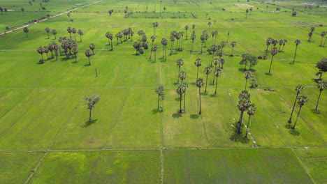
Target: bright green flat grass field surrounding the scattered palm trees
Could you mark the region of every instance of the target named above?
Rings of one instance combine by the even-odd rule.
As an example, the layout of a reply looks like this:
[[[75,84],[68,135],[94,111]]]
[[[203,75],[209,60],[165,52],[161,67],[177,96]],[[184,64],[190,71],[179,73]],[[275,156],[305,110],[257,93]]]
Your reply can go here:
[[[40,7],[39,1],[33,8]],[[95,0],[50,1],[44,3],[46,10],[34,12],[28,1],[1,1],[2,8],[20,10],[24,6],[26,11],[24,16],[18,11],[3,12],[0,31],[92,2]],[[64,14],[29,26],[28,38],[22,29],[0,36],[0,183],[327,183],[326,91],[321,93],[319,112],[314,111],[319,95],[315,66],[327,56],[326,47],[319,46],[320,33],[326,31],[326,4],[309,14],[303,2],[103,0],[71,12],[73,22]],[[253,6],[247,18],[249,7],[237,3]],[[127,18],[126,6],[133,12]],[[279,13],[270,12],[277,7],[282,9]],[[297,8],[296,17],[291,16],[292,7]],[[110,9],[114,10],[111,16]],[[132,46],[140,39],[140,29],[151,45],[152,22],[159,22],[154,41],[159,47],[157,61],[154,54],[149,58],[150,49],[136,56]],[[192,24],[196,24],[195,52],[189,52]],[[185,25],[189,25],[187,40]],[[52,34],[48,39],[45,27],[56,29],[59,38],[69,37],[68,26],[84,31],[82,42],[76,35],[78,62],[63,54],[58,61],[38,64],[41,55],[36,48],[58,43]],[[307,42],[311,26],[315,31],[312,42]],[[106,32],[115,35],[129,27],[135,33],[133,40],[117,44],[114,38],[110,51]],[[174,30],[184,31],[184,51],[170,55],[169,41],[163,61],[161,38],[169,40]],[[201,88],[199,115],[194,61],[202,59],[198,75],[205,78],[203,69],[212,59],[206,53],[211,36],[200,53],[203,30],[217,30],[217,43],[227,40],[228,31],[231,34],[224,47],[226,63],[217,94],[210,74],[208,92]],[[245,128],[242,135],[235,132],[240,116],[238,94],[245,88],[240,56],[247,52],[265,55],[268,37],[288,43],[284,52],[275,55],[271,75],[267,75],[270,54],[254,66],[259,86],[248,89],[258,109],[249,125],[251,135],[245,138]],[[292,64],[296,39],[301,43]],[[234,56],[229,56],[231,41],[237,42]],[[90,43],[96,45],[91,66],[84,54]],[[178,113],[177,59],[183,59],[182,70],[189,83],[183,114]],[[326,76],[324,73],[323,79]],[[157,111],[154,93],[160,84],[166,95],[163,112]],[[291,130],[287,120],[298,84],[305,86],[301,94],[310,101],[301,110],[296,129]],[[89,123],[83,97],[92,94],[99,94],[101,100]],[[293,122],[297,115],[298,106]],[[246,114],[243,124],[247,118]]]

